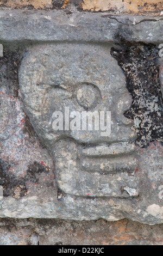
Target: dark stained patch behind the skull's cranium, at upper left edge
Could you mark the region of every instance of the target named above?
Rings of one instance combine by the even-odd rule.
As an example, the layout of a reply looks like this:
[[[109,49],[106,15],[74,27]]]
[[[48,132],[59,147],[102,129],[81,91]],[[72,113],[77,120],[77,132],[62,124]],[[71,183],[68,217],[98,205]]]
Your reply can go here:
[[[6,86],[7,94],[18,96],[18,69],[21,58],[18,53],[4,51],[0,57],[0,87]]]

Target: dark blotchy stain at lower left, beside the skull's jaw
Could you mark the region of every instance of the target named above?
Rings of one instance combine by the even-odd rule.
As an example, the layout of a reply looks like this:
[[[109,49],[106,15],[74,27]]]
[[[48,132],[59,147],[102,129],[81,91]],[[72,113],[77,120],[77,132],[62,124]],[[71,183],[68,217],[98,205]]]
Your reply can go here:
[[[9,172],[11,165],[0,159],[0,186],[3,186],[4,197],[20,198],[27,195],[26,182],[39,182],[39,175],[48,172],[49,168],[43,164],[34,162],[28,166],[27,174],[23,178],[17,178]]]

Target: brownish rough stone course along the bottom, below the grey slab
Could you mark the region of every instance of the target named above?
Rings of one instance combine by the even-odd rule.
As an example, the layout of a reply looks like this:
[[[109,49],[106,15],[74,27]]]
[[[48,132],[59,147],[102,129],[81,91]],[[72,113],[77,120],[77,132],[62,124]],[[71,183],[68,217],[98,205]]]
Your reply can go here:
[[[162,229],[162,224],[149,226],[126,219],[0,219],[0,245],[162,245]]]

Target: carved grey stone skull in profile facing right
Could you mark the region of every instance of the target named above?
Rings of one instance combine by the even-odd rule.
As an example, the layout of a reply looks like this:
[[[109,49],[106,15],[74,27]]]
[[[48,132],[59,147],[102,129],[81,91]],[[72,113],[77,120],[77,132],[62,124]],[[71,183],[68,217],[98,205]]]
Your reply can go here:
[[[103,143],[102,147],[105,143],[113,143],[113,147],[115,146],[118,150],[121,148],[121,143],[118,144],[118,142],[129,143],[135,139],[135,134],[130,129],[132,122],[123,116],[131,103],[124,76],[110,56],[110,47],[105,49],[101,46],[82,44],[68,46],[48,45],[46,48],[41,47],[37,52],[33,49],[30,56],[24,58],[19,81],[28,115],[39,137],[52,154],[54,151],[58,183],[63,192],[76,196],[90,194],[94,197],[128,197],[126,192],[123,196],[122,187],[137,187],[137,179],[134,175],[135,155],[129,155],[128,161],[123,161],[121,154],[115,160],[111,156],[101,159],[103,155],[100,158],[98,156],[83,157],[82,153],[87,143],[90,145]],[[66,51],[65,48],[67,48]],[[86,106],[78,102],[78,91],[82,90],[80,88],[83,88],[84,83],[88,88],[95,87],[93,89],[95,105],[89,104],[92,101],[91,96],[87,99],[82,95],[82,99],[87,102]],[[68,107],[70,112],[75,110],[80,113],[85,110],[88,112],[111,111],[111,134],[103,136],[101,129],[99,131],[83,129],[54,131],[53,112],[64,113],[65,107]],[[78,145],[74,140],[85,145]],[[91,148],[89,150],[91,151]],[[122,150],[122,154],[125,153],[126,148]],[[113,154],[114,152],[111,155]],[[108,175],[100,175],[103,172]],[[113,174],[114,179],[112,179]],[[136,195],[138,194],[137,192]]]

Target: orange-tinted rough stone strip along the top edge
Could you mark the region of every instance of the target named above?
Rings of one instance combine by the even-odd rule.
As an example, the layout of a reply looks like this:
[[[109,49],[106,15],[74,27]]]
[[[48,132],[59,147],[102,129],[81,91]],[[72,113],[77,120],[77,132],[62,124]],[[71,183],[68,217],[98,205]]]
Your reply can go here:
[[[2,0],[0,7],[16,9],[65,9],[66,11],[109,11],[114,14],[160,15],[158,0]]]

